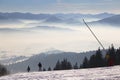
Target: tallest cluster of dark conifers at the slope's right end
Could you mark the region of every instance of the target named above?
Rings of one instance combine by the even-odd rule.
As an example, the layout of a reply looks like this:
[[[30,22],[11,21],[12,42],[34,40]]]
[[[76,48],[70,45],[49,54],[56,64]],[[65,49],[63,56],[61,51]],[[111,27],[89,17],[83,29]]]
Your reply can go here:
[[[103,56],[102,51],[98,49],[90,59],[85,57],[80,68],[108,67],[114,65],[120,65],[120,48],[115,49],[112,45],[106,51],[105,56]]]

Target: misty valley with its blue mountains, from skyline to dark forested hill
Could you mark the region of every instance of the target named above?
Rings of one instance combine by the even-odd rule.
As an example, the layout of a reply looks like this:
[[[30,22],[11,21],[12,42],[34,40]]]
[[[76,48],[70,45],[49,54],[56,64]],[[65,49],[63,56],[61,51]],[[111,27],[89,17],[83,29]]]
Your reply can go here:
[[[111,44],[118,48],[119,17],[120,15],[109,13],[0,13],[0,55],[6,58],[31,56],[49,50],[66,52],[96,50],[100,45],[83,23],[83,18],[105,48]]]

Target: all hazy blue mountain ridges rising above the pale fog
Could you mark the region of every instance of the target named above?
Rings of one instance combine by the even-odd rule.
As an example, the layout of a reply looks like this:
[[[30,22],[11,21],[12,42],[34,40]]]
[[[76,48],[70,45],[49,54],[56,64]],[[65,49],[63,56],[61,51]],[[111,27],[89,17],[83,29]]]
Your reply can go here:
[[[111,26],[120,26],[120,15],[110,14],[110,13],[101,13],[101,14],[32,14],[32,13],[0,13],[0,25],[7,24],[24,24],[24,21],[21,20],[37,20],[41,21],[38,23],[29,23],[25,24],[32,26],[25,29],[14,29],[14,28],[1,28],[0,32],[21,32],[29,30],[70,30],[68,28],[61,28],[56,26],[50,26],[49,24],[67,24],[67,25],[84,25],[82,19],[93,19],[97,18],[96,21],[88,22],[89,24],[100,24],[100,25],[111,25]],[[47,26],[45,24],[48,24]],[[43,26],[39,26],[44,24]],[[11,25],[12,26],[12,25]]]

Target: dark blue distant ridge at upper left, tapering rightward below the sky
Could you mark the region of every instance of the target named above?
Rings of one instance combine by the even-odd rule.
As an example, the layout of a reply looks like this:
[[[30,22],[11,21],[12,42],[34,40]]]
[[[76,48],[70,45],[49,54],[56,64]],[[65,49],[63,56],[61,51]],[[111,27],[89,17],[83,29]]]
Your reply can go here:
[[[28,19],[41,20],[50,17],[50,14],[32,14],[32,13],[0,13],[0,19]]]

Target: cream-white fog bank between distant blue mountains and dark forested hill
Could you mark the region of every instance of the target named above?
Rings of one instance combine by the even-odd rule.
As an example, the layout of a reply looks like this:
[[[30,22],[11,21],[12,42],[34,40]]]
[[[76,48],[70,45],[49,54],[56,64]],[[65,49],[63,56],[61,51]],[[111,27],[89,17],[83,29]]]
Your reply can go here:
[[[0,55],[33,55],[46,50],[83,52],[100,45],[83,24],[52,24],[22,20],[20,24],[0,25]],[[120,28],[90,25],[105,48],[120,47]]]

